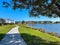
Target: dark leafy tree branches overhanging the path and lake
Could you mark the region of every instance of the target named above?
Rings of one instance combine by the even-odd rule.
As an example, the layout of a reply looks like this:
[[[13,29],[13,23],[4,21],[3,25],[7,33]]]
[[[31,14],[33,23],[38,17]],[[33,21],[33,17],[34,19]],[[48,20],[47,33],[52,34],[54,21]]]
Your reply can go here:
[[[28,9],[30,16],[60,17],[60,0],[11,0],[3,2],[4,7]]]

